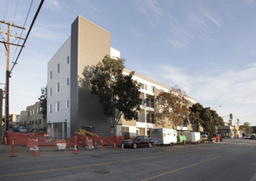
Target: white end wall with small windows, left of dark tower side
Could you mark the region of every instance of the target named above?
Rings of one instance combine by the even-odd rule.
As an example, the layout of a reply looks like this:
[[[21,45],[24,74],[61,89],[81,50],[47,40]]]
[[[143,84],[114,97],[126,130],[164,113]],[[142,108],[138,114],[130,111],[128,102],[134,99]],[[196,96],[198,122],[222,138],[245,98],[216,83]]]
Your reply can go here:
[[[52,137],[69,137],[70,42],[69,38],[48,63],[47,129]]]

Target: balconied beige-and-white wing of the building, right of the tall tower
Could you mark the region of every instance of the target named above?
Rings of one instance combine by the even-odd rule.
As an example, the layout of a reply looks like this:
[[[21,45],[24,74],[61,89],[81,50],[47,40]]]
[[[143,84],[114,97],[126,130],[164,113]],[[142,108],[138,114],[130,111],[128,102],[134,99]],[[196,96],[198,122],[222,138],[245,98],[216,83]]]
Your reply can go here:
[[[125,69],[124,73],[129,74],[130,70]],[[117,135],[146,135],[149,136],[150,128],[173,128],[173,125],[166,119],[164,127],[155,123],[154,113],[156,112],[155,99],[162,91],[171,90],[170,87],[153,81],[148,77],[141,76],[139,73],[134,74],[133,79],[140,83],[140,99],[142,104],[140,105],[139,119],[133,121],[126,121],[121,118],[121,123],[117,126]],[[187,97],[191,104],[195,104],[196,100],[192,97]],[[180,131],[193,131],[190,123],[180,125],[177,128]],[[202,130],[201,130],[202,131]]]

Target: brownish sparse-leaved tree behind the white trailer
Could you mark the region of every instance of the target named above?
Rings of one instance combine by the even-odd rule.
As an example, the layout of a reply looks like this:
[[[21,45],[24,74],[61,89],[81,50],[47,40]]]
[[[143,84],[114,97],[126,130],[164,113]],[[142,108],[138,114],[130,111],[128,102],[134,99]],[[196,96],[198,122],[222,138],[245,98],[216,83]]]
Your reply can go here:
[[[178,86],[168,92],[162,91],[156,98],[159,112],[155,114],[156,123],[164,126],[165,118],[172,123],[173,129],[186,123],[189,115],[189,104],[186,93]]]

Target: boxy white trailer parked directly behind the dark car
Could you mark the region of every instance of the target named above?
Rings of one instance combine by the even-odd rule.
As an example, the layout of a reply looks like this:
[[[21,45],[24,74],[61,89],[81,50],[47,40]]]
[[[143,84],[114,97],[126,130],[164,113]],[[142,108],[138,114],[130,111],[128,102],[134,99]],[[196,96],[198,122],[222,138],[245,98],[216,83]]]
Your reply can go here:
[[[168,128],[151,128],[149,130],[150,138],[156,145],[173,145],[177,144],[177,131]]]

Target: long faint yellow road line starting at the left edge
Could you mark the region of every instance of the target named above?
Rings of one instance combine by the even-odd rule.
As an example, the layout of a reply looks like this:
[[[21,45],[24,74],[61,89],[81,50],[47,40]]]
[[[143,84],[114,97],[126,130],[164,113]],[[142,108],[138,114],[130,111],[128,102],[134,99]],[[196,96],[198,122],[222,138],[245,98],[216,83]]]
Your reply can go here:
[[[16,174],[2,174],[2,175],[0,175],[0,178],[10,177],[10,176],[30,175],[30,174],[44,174],[44,173],[48,173],[48,172],[63,171],[63,170],[69,170],[69,169],[81,169],[81,168],[98,166],[98,165],[115,164],[115,163],[129,162],[129,161],[135,161],[135,160],[146,160],[146,159],[158,158],[158,157],[167,156],[167,155],[178,155],[180,153],[190,153],[190,152],[195,152],[195,151],[206,151],[206,150],[212,150],[212,148],[202,148],[202,149],[197,149],[197,150],[192,150],[192,151],[178,151],[175,153],[168,153],[168,154],[164,154],[164,155],[153,155],[153,156],[147,156],[147,157],[130,159],[130,160],[116,160],[116,161],[102,162],[102,163],[92,164],[92,165],[79,165],[79,166],[73,166],[73,167],[63,167],[63,168],[58,168],[58,169],[43,169],[43,170],[39,170],[39,171],[21,172],[21,173],[16,173]]]

